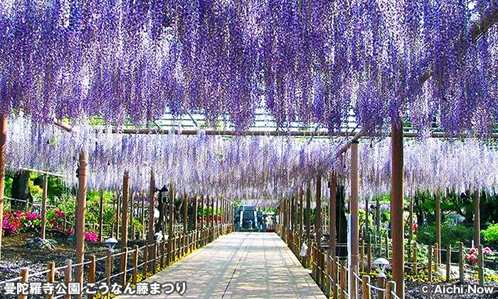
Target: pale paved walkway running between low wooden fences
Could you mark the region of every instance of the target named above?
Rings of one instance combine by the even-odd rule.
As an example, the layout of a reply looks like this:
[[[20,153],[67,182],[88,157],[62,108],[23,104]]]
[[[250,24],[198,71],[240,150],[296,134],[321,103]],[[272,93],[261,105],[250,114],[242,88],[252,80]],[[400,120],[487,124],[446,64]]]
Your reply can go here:
[[[148,282],[186,281],[178,293],[139,298],[325,299],[282,239],[273,233],[233,233],[174,263]]]

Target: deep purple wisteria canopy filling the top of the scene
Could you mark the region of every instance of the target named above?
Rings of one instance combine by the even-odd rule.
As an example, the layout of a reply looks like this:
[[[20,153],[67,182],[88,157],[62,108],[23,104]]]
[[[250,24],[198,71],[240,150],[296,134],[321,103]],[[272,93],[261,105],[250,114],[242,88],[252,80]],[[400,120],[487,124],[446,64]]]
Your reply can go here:
[[[36,122],[99,115],[110,125],[203,112],[244,130],[264,107],[280,127],[300,120],[333,133],[351,107],[366,132],[409,109],[420,130],[436,118],[451,135],[485,135],[498,115],[497,33],[475,24],[497,7],[4,0],[0,112],[23,110]]]

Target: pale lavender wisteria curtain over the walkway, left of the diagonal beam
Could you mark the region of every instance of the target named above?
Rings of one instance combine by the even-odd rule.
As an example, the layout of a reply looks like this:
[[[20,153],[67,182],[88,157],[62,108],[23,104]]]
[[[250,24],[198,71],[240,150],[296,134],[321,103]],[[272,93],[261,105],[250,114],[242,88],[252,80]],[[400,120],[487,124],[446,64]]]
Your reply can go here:
[[[7,168],[41,169],[66,175],[77,184],[80,150],[88,151],[88,188],[122,189],[129,172],[133,192],[149,192],[151,169],[156,187],[173,182],[179,193],[226,196],[231,199],[277,200],[304,182],[327,174],[341,142],[292,137],[219,137],[200,132],[186,135],[123,135],[88,125],[65,132],[25,117],[13,117],[9,130]]]

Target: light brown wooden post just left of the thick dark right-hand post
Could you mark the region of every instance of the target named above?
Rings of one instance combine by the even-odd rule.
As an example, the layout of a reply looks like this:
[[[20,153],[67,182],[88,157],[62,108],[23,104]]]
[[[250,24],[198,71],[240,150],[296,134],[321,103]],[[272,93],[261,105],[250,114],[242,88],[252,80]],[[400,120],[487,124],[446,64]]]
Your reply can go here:
[[[351,210],[351,267],[358,269],[359,264],[359,169],[358,169],[358,142],[351,144],[351,197],[349,199],[349,209]],[[352,276],[352,274],[351,274]],[[351,281],[353,278],[351,278]],[[354,283],[351,283],[349,294],[351,299],[356,299]]]

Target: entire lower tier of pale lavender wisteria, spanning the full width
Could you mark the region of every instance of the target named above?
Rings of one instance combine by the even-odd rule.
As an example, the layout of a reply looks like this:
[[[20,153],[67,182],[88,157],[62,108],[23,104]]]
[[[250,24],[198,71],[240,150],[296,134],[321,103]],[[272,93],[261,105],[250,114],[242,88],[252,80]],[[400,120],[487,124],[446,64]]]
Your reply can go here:
[[[13,117],[9,130],[7,167],[31,167],[60,172],[76,184],[75,169],[82,148],[89,152],[89,189],[122,186],[129,171],[134,192],[147,193],[149,171],[157,187],[174,182],[179,192],[252,199],[272,205],[297,188],[324,179],[334,171],[349,193],[349,152],[336,157],[340,140],[301,140],[293,137],[185,135],[120,135],[81,125],[65,132],[26,117]],[[366,140],[359,147],[360,197],[390,190],[390,140]],[[465,192],[498,190],[498,151],[479,140],[424,139],[406,142],[404,191]],[[314,188],[312,188],[314,191]],[[322,194],[328,194],[323,184]],[[258,201],[259,200],[259,201]],[[324,201],[325,202],[325,201]]]

